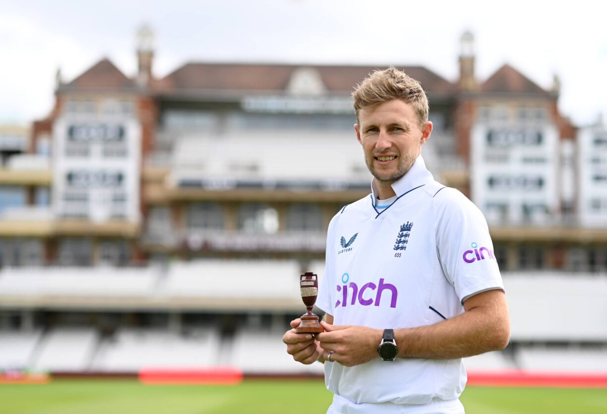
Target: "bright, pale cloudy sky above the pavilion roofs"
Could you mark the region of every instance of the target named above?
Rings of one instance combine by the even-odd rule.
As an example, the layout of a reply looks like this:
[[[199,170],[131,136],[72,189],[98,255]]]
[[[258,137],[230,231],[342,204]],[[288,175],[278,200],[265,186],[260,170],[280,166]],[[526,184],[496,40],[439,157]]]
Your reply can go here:
[[[154,75],[189,61],[425,66],[458,76],[459,38],[475,36],[476,75],[508,63],[578,126],[607,120],[607,3],[578,0],[0,0],[0,124],[53,105],[55,73],[73,80],[107,57],[127,76],[135,33],[155,32]]]

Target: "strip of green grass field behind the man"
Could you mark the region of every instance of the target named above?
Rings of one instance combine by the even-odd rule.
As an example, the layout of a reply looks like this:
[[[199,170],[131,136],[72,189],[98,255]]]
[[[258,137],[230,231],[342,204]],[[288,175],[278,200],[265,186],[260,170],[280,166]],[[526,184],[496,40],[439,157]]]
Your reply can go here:
[[[467,414],[604,414],[607,389],[468,387]],[[141,385],[116,379],[58,379],[0,385],[1,414],[313,414],[331,393],[320,379],[245,379],[240,385]]]

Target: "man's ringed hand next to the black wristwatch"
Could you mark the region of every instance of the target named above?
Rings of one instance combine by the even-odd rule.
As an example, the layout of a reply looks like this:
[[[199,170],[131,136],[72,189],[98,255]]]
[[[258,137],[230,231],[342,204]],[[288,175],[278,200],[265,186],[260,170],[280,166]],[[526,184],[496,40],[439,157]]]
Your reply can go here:
[[[330,325],[320,322],[324,332],[316,334],[326,359],[329,351],[331,361],[346,367],[364,364],[378,357],[377,348],[382,338],[382,330],[352,325]]]

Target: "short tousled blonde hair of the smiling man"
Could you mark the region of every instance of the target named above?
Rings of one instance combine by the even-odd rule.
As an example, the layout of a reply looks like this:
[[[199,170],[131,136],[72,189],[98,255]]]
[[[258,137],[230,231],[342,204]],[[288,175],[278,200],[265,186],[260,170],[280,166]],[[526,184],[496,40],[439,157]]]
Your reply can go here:
[[[352,92],[356,120],[361,109],[370,109],[393,99],[413,106],[420,126],[428,120],[428,98],[421,84],[393,66],[370,73]]]

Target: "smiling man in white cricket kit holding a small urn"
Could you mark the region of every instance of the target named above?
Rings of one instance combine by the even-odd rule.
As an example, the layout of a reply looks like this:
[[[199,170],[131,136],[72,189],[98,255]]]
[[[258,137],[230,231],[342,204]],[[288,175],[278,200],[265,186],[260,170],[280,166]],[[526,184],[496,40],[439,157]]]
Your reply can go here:
[[[328,413],[463,413],[461,358],[510,336],[486,220],[424,165],[432,123],[417,81],[390,67],[352,95],[372,193],[329,225],[325,332],[283,342],[296,361],[325,363]]]

